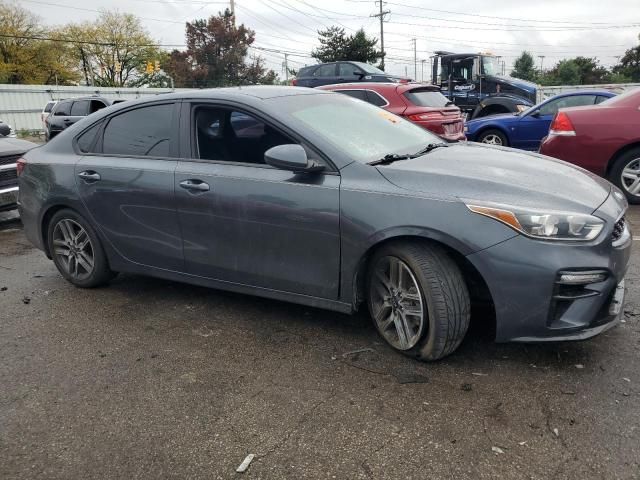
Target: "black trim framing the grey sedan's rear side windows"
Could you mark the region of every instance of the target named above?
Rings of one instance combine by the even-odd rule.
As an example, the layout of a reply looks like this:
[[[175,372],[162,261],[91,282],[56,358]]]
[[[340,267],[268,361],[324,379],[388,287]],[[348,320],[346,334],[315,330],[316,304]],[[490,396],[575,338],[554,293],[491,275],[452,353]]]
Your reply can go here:
[[[133,110],[139,110],[141,108],[159,106],[159,105],[173,105],[173,113],[171,117],[171,137],[169,138],[169,156],[154,156],[154,155],[123,155],[120,153],[103,153],[103,139],[104,139],[104,130],[111,121],[112,118],[117,117],[119,115],[125,114],[127,112],[131,112]],[[165,161],[178,161],[180,159],[180,135],[179,133],[179,125],[180,125],[180,105],[182,104],[182,100],[158,100],[155,102],[143,103],[138,105],[132,105],[129,108],[119,109],[116,112],[113,112],[111,115],[107,115],[105,117],[100,118],[99,120],[93,122],[91,125],[88,125],[86,128],[82,129],[75,137],[73,138],[72,146],[73,150],[76,154],[82,156],[97,156],[97,157],[113,157],[113,158],[137,158],[137,159],[151,159],[151,160],[165,160]],[[91,129],[96,123],[102,123],[98,132],[96,133],[96,138],[91,144],[92,147],[97,147],[94,152],[83,152],[80,150],[78,146],[78,138],[87,130]]]

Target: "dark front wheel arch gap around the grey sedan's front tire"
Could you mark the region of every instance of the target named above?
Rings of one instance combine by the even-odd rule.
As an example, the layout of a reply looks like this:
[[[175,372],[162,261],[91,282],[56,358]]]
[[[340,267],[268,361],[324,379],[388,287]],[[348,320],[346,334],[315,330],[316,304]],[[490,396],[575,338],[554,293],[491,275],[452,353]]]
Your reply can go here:
[[[453,240],[453,241],[452,241]],[[371,259],[381,248],[400,242],[431,243],[442,247],[456,263],[464,277],[471,297],[471,327],[482,323],[484,333],[490,333],[495,338],[496,312],[491,290],[479,270],[466,258],[465,248],[461,243],[445,235],[425,235],[403,233],[386,236],[373,243],[360,257],[353,277],[353,309],[358,310],[366,300],[366,273]],[[470,253],[470,252],[466,252]]]

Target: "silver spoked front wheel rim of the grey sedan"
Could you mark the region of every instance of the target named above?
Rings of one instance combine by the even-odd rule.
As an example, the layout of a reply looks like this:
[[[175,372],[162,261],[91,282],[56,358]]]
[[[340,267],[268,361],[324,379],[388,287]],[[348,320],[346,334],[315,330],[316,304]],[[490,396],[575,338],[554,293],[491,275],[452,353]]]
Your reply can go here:
[[[418,282],[409,267],[396,257],[381,258],[370,295],[374,321],[385,340],[399,350],[414,347],[425,322]]]

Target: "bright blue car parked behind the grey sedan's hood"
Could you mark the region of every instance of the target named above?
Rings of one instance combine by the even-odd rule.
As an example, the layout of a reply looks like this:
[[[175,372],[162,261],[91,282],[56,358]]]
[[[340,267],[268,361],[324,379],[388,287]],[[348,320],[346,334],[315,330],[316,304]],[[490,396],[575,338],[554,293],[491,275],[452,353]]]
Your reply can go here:
[[[537,151],[558,109],[595,105],[615,96],[607,90],[566,92],[522,112],[492,115],[465,124],[467,140]]]

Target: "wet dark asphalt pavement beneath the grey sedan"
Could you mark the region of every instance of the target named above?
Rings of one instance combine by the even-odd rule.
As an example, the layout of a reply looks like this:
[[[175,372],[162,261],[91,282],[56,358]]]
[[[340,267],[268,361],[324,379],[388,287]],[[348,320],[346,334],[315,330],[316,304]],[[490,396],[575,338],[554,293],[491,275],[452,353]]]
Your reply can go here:
[[[494,344],[478,322],[426,364],[365,314],[74,288],[0,214],[0,478],[637,479],[639,284],[636,249],[597,338]]]

